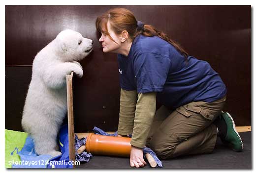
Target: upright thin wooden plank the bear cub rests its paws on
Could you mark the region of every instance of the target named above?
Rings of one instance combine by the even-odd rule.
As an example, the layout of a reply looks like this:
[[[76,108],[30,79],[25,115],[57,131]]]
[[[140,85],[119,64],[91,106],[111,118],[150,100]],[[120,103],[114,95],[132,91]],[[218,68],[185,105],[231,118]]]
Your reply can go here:
[[[72,79],[73,79],[73,72],[71,72],[70,75],[66,75],[69,160],[75,161],[75,132],[74,132],[74,117],[73,117]],[[73,168],[74,167],[75,165],[73,165]]]

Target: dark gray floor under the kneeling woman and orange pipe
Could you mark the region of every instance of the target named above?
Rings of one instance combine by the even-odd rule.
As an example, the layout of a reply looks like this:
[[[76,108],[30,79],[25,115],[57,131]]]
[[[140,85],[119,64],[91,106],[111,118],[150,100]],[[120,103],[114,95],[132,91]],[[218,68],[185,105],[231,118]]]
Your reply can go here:
[[[170,160],[161,160],[160,169],[252,169],[252,135],[251,132],[239,133],[244,149],[234,152],[225,147],[220,139],[211,154],[182,156]],[[77,169],[135,169],[129,166],[129,158],[93,156],[88,163],[76,166]],[[150,165],[140,169],[149,169]],[[158,168],[157,168],[158,169]]]

